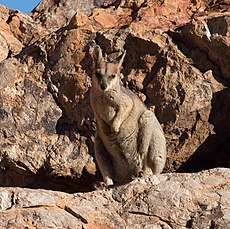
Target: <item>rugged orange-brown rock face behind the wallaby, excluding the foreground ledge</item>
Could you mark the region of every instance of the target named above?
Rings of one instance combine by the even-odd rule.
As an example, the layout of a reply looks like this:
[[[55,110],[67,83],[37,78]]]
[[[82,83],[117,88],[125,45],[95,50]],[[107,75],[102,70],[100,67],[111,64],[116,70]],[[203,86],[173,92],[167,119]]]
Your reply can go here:
[[[165,172],[230,167],[229,18],[225,0],[0,6],[0,185],[76,192],[100,179],[95,44],[111,58],[126,50],[124,84],[164,128]]]

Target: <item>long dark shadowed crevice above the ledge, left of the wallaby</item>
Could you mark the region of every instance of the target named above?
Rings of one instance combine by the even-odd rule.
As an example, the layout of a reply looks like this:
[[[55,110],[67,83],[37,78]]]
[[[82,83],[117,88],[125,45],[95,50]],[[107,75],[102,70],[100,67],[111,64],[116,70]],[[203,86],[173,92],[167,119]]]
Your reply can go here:
[[[6,160],[1,161],[1,167],[5,162],[4,169],[0,169],[1,187],[22,187],[32,189],[46,189],[62,191],[67,193],[89,192],[94,190],[93,183],[96,181],[95,175],[90,175],[86,170],[82,171],[80,178],[77,176],[51,176],[46,168],[41,168],[36,174],[25,171],[17,171],[15,166],[11,166]],[[8,163],[8,164],[6,164]]]

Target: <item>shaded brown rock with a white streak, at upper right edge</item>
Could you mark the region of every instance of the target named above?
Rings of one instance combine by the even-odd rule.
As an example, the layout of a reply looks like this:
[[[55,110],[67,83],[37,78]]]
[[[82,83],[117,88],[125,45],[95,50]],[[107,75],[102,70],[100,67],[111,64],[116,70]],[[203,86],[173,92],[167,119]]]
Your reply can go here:
[[[179,39],[184,45],[186,44],[187,50],[185,47],[180,46],[180,48],[199,66],[198,68],[204,72],[212,69],[214,74],[222,80],[229,80],[230,52],[226,52],[230,47],[229,24],[229,12],[212,13],[210,16],[197,17],[187,25],[178,28],[180,32],[175,37],[175,40]],[[193,44],[196,50],[189,54],[190,44]]]

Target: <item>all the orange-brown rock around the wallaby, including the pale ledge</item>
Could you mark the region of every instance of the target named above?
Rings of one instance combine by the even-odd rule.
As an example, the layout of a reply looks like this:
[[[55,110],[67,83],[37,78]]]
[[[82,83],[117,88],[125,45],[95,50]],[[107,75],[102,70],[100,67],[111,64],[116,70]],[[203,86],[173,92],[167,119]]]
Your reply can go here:
[[[229,228],[229,25],[227,0],[0,5],[0,227]],[[126,50],[124,84],[155,110],[168,157],[162,175],[90,192],[96,44]]]

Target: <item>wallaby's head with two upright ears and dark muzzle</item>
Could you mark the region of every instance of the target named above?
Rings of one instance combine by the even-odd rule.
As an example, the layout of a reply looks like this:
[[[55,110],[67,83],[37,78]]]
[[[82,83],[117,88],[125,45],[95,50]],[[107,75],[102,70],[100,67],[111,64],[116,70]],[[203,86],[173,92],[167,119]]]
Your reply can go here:
[[[108,62],[102,55],[102,50],[96,46],[93,50],[94,74],[93,86],[101,91],[116,90],[121,83],[121,66],[125,53],[118,63]]]

